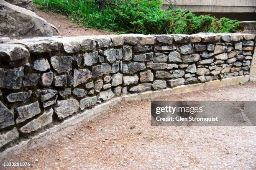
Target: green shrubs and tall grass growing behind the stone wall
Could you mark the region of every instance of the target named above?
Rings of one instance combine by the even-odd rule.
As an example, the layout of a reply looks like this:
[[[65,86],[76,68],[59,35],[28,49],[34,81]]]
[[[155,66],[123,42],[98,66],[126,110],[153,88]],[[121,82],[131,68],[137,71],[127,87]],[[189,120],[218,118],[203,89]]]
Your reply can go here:
[[[34,0],[38,8],[69,16],[86,27],[113,30],[119,33],[192,34],[199,32],[233,33],[239,22],[210,15],[196,16],[192,12],[170,8],[159,10],[160,0],[109,0],[99,11],[94,0]]]

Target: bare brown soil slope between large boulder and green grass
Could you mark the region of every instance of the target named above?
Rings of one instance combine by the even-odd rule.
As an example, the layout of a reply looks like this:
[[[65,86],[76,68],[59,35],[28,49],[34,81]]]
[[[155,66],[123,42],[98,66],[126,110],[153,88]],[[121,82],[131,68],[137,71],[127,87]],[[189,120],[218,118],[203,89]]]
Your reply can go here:
[[[114,32],[106,32],[104,30],[97,30],[92,28],[86,28],[82,25],[72,23],[72,21],[64,15],[43,12],[37,10],[35,12],[38,16],[44,18],[49,23],[54,25],[59,30],[59,36],[96,36],[96,35],[110,35]]]

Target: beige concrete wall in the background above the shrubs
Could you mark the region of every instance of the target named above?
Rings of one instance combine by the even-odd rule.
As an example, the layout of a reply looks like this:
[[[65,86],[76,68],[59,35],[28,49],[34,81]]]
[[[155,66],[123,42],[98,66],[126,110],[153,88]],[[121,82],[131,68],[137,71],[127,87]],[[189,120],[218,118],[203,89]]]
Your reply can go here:
[[[174,0],[173,0],[174,1]],[[256,13],[255,0],[175,0],[177,8],[207,13]],[[163,0],[163,9],[169,1]]]

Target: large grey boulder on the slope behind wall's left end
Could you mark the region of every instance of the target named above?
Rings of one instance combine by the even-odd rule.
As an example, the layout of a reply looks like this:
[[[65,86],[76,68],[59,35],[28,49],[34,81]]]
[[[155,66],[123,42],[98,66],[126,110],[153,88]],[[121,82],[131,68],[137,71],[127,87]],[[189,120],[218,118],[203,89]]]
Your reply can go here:
[[[0,0],[0,36],[55,36],[58,29],[30,10]]]

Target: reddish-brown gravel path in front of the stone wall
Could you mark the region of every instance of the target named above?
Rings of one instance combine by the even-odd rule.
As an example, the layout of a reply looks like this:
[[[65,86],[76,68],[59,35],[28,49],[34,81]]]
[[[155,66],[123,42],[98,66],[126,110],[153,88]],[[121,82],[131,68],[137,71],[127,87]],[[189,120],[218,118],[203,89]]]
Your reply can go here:
[[[256,100],[256,83],[159,100]],[[39,170],[255,170],[256,127],[153,127],[150,100],[123,101],[72,134],[8,160],[31,161]]]

